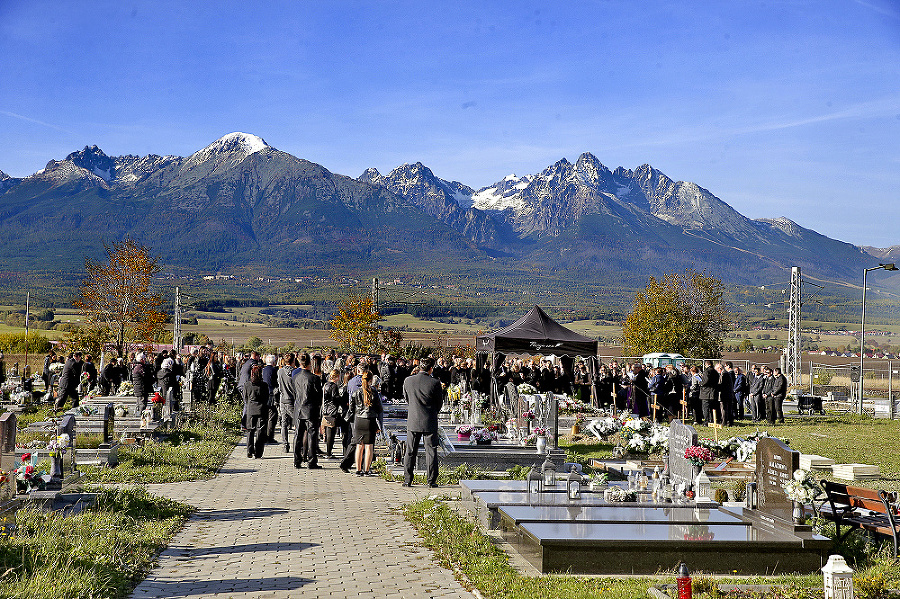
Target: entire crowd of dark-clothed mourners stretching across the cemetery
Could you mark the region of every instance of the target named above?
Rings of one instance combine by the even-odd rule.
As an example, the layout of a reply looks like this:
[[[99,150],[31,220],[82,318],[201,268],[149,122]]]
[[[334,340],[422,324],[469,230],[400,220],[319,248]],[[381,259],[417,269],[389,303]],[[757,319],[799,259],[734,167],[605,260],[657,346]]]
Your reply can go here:
[[[654,368],[640,362],[604,364],[593,357],[559,363],[500,358],[494,364],[485,358],[407,360],[336,351],[281,356],[251,351],[234,357],[202,346],[186,355],[170,350],[156,355],[132,352],[98,371],[91,355],[74,352],[66,358],[50,352],[43,377],[47,389],[54,383],[57,387],[58,410],[69,399],[77,406],[79,397],[92,389],[101,395],[116,394],[125,382],[131,383],[141,413],[151,394],[159,394],[166,414],[180,409],[185,392],[193,405],[239,401],[248,457],[262,457],[267,444],[281,444],[286,453],[293,453],[297,468],[320,468],[321,436],[325,459],[341,459],[342,470],[350,472],[355,466],[360,476],[371,472],[375,436],[384,431],[384,406],[394,402],[409,405],[411,414],[414,402],[425,406],[421,422],[412,425],[422,430],[410,431],[429,435],[426,456],[436,464],[432,454],[438,444],[437,411],[452,386],[462,392],[493,390],[496,397],[510,383],[516,387],[527,383],[539,393],[570,394],[597,408],[614,406],[659,421],[692,417],[695,424],[723,426],[745,418],[784,422],[782,403],[788,385],[779,368],[757,365],[744,373],[731,362],[711,360],[702,366]],[[55,363],[62,365],[61,371]],[[426,378],[416,378],[423,373]],[[340,455],[335,451],[338,437]]]

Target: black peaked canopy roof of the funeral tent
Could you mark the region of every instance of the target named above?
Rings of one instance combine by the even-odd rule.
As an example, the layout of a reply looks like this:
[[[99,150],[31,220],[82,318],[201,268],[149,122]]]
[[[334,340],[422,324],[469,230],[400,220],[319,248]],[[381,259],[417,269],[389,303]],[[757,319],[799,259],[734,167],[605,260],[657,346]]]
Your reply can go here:
[[[482,352],[596,356],[597,340],[567,329],[535,306],[505,329],[476,337],[475,349]]]

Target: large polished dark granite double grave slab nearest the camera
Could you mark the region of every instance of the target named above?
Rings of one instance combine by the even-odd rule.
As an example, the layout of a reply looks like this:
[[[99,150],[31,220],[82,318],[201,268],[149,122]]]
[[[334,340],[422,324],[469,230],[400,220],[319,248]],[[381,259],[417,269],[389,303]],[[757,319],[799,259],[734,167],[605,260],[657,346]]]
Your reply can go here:
[[[543,573],[653,574],[682,561],[722,574],[816,572],[831,548],[740,508],[558,503],[496,508],[502,536]]]

